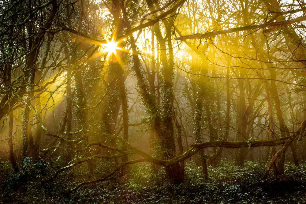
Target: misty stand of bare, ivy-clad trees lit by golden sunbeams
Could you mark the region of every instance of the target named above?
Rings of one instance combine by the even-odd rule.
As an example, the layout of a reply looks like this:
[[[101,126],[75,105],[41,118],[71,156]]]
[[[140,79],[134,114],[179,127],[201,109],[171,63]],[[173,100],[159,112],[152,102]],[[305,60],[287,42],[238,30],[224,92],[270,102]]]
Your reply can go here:
[[[26,157],[60,166],[44,182],[85,162],[88,176],[99,163],[111,169],[76,190],[118,171],[128,176],[138,162],[163,166],[176,182],[191,158],[206,178],[219,158],[243,166],[248,155],[271,157],[263,179],[271,168],[282,174],[288,147],[299,164],[304,7],[272,0],[0,4],[0,118],[15,172]],[[13,147],[18,134],[21,151]]]

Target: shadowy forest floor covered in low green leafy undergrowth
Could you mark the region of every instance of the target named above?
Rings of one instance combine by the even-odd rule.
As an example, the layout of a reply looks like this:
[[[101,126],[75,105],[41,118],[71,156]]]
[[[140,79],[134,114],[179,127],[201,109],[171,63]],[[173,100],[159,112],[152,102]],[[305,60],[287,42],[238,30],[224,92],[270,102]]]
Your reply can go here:
[[[244,168],[233,161],[222,160],[210,166],[205,180],[201,168],[186,162],[185,182],[174,184],[166,179],[163,169],[153,175],[150,164],[130,166],[129,179],[117,175],[102,183],[69,189],[80,181],[87,166],[61,173],[55,180],[42,184],[38,170],[25,175],[8,172],[8,162],[0,173],[0,203],[306,203],[306,164],[285,165],[285,175],[261,181],[267,163],[247,161]],[[7,168],[6,168],[7,167]],[[103,167],[97,172],[104,172]],[[104,166],[105,168],[105,166]],[[36,173],[36,174],[35,174]]]

